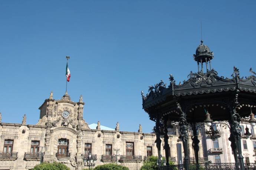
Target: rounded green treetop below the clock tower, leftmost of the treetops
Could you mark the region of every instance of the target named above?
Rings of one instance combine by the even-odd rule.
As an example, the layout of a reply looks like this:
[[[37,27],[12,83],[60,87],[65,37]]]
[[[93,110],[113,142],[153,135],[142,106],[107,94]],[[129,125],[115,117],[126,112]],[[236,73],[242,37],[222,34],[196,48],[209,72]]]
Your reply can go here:
[[[46,163],[43,162],[35,166],[32,170],[70,170],[65,164],[62,163]]]

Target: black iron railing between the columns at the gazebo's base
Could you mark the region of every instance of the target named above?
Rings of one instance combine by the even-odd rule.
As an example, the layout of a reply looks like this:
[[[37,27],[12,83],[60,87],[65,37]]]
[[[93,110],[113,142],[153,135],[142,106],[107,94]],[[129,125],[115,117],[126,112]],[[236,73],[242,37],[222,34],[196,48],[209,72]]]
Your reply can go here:
[[[246,170],[256,170],[255,163],[245,163]],[[203,163],[189,164],[189,170],[240,170],[239,163]],[[160,170],[185,170],[184,164],[161,166]]]

